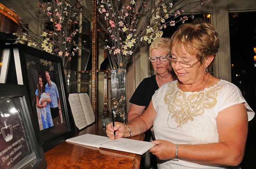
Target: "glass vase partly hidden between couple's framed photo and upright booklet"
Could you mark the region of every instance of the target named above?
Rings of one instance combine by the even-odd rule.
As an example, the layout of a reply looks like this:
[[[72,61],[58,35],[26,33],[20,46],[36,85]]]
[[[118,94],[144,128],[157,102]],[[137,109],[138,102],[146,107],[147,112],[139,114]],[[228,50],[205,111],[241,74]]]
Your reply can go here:
[[[68,93],[76,93],[76,71],[64,69],[66,88]]]

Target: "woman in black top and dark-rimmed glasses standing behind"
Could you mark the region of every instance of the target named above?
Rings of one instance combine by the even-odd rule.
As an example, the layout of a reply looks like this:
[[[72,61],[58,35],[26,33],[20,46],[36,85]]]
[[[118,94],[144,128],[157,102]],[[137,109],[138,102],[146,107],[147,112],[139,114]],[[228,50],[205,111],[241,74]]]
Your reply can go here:
[[[156,75],[146,77],[140,82],[134,91],[130,103],[132,106],[128,112],[128,121],[143,113],[148,107],[150,100],[159,87],[164,83],[177,80],[167,56],[170,54],[170,39],[160,37],[155,39],[149,47],[149,60]]]

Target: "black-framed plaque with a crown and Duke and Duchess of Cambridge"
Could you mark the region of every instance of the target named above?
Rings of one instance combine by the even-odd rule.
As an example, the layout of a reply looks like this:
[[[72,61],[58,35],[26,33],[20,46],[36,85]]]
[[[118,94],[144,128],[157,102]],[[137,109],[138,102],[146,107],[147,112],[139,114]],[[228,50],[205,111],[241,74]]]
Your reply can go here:
[[[0,84],[0,168],[46,168],[26,87]]]

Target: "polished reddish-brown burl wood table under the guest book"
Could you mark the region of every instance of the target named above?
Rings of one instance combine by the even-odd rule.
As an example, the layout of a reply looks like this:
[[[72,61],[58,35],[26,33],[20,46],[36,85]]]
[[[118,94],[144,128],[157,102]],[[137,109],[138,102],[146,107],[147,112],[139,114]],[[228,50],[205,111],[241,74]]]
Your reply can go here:
[[[102,127],[101,118],[89,127],[82,129],[74,136],[86,133],[106,136],[106,128]],[[130,137],[130,139],[144,140],[144,134]],[[47,169],[139,169],[140,155],[133,153],[94,148],[84,145],[62,142],[44,153]]]

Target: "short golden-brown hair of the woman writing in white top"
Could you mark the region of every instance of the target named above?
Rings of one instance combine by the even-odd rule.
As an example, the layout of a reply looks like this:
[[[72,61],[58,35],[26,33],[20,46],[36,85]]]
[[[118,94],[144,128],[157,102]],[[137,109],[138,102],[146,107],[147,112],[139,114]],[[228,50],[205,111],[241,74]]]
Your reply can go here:
[[[215,56],[219,49],[219,37],[217,29],[208,21],[194,19],[192,23],[181,24],[171,37],[171,47],[176,44],[176,52],[186,51],[195,55],[201,63],[208,56]],[[172,49],[173,50],[173,49]],[[208,66],[212,68],[213,62]]]

